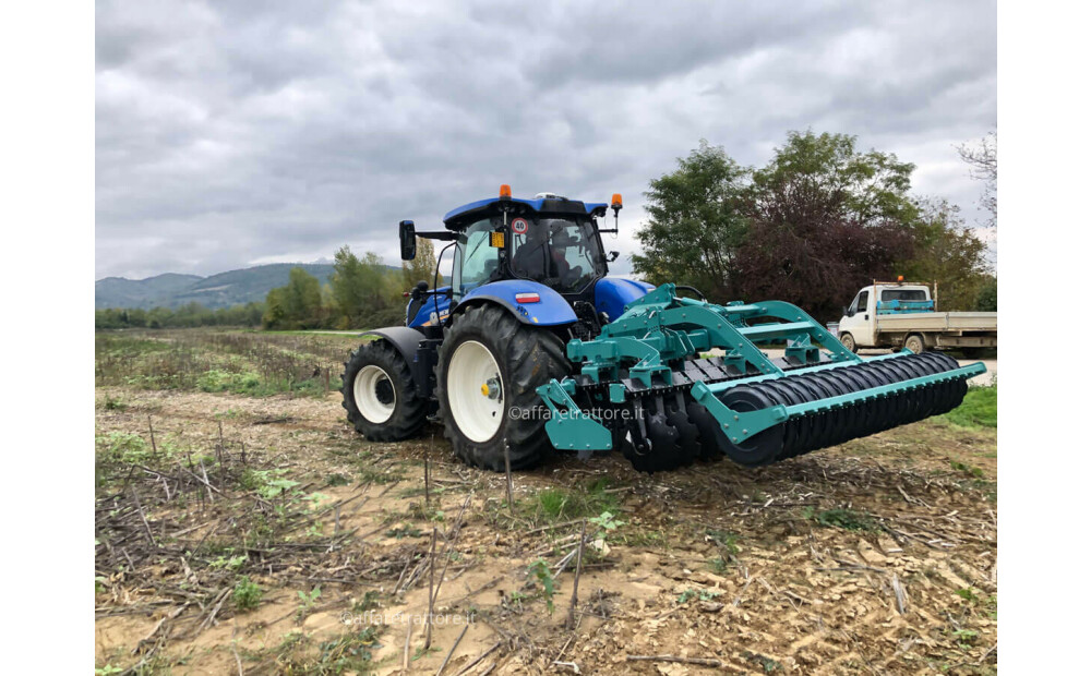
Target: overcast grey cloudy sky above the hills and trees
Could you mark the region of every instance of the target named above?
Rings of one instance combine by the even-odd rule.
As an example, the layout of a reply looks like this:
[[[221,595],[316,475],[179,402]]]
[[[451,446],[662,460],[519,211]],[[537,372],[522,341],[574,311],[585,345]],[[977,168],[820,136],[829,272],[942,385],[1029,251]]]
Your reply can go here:
[[[896,153],[914,192],[983,218],[954,146],[996,125],[993,2],[96,8],[99,278],[346,243],[393,264],[398,220],[437,227],[501,183],[623,193],[607,244],[628,254],[648,180],[700,138],[763,165],[806,128]]]

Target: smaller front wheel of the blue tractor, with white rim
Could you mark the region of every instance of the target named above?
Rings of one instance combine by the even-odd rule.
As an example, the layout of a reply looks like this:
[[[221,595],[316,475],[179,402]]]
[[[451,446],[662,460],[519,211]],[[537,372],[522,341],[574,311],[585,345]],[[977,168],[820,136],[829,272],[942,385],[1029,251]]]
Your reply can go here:
[[[424,425],[428,402],[417,396],[409,364],[385,340],[362,345],[345,362],[341,406],[371,442],[400,442]]]

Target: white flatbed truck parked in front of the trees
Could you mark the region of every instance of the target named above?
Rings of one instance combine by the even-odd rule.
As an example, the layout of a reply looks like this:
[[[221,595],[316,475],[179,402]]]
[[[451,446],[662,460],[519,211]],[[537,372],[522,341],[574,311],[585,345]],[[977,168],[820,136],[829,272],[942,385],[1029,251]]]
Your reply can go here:
[[[958,348],[975,359],[996,347],[995,312],[936,312],[924,283],[876,281],[856,293],[844,316],[829,325],[841,343],[856,348]]]

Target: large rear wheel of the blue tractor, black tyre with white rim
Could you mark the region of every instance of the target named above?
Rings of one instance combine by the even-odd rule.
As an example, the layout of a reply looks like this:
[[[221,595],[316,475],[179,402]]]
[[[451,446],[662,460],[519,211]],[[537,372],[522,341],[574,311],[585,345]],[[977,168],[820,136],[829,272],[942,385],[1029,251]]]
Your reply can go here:
[[[548,410],[535,391],[571,369],[561,339],[496,305],[470,307],[444,329],[435,396],[455,455],[473,467],[536,467],[552,451]]]

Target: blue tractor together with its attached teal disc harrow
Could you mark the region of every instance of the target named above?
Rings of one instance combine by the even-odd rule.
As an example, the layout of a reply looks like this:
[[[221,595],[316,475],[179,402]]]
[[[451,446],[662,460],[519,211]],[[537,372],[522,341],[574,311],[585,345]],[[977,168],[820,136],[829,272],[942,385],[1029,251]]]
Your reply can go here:
[[[448,242],[452,283],[420,282],[406,326],[364,334],[375,339],[343,375],[356,430],[397,442],[432,419],[459,458],[494,471],[554,448],[620,449],[647,472],[723,456],[760,466],[946,412],[984,371],[938,353],[864,361],[788,303],[717,305],[608,277],[618,253],[600,236],[621,208],[621,195],[519,200],[503,185],[444,230],[401,221],[403,259],[418,237]],[[784,357],[759,349],[770,342]]]

